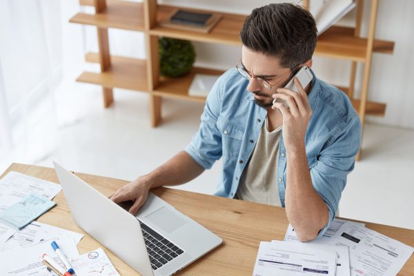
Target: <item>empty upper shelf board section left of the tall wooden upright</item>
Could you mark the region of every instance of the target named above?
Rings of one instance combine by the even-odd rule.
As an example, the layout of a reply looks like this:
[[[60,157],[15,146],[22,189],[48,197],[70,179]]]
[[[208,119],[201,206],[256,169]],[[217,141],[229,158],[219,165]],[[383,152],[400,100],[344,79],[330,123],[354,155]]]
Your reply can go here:
[[[89,6],[89,1],[82,1]],[[108,0],[106,10],[97,14],[79,12],[70,19],[72,23],[93,25],[100,28],[118,28],[144,31],[144,6],[142,3]]]

